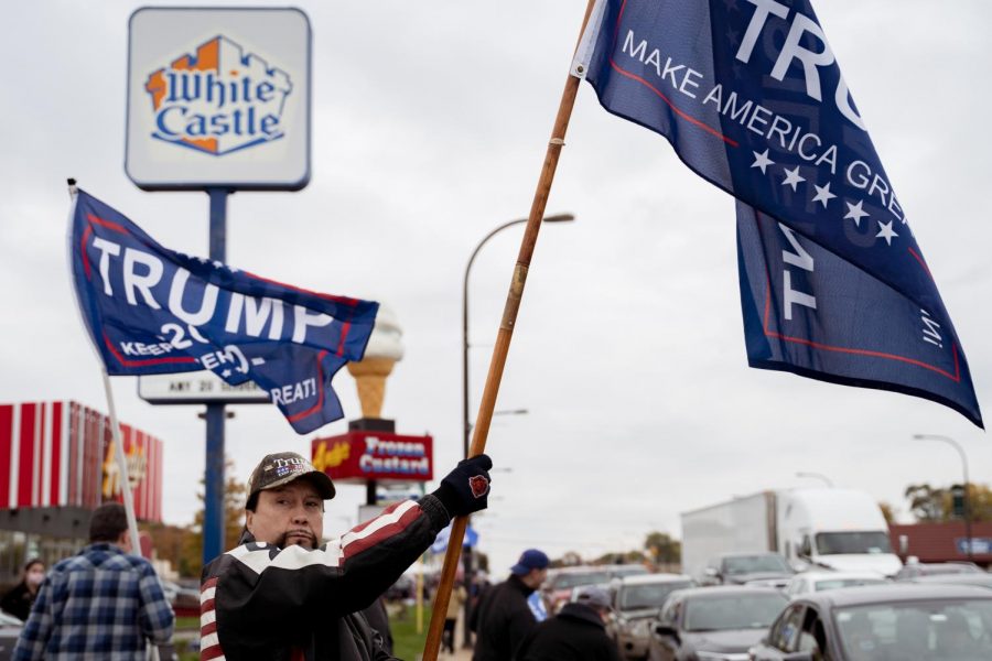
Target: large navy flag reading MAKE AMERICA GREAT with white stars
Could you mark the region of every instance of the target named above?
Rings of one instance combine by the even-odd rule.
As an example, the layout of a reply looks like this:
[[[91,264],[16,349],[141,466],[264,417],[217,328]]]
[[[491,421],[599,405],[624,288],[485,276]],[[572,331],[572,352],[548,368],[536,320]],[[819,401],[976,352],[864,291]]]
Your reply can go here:
[[[981,426],[968,362],[809,2],[600,0],[576,74],[737,198],[753,367]]]

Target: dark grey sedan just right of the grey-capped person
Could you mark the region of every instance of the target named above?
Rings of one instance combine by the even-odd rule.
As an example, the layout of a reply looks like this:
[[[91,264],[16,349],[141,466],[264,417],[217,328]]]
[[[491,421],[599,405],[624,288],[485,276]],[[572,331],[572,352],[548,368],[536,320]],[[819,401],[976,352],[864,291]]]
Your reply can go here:
[[[788,599],[770,587],[727,585],[671,593],[656,620],[650,661],[746,661]]]

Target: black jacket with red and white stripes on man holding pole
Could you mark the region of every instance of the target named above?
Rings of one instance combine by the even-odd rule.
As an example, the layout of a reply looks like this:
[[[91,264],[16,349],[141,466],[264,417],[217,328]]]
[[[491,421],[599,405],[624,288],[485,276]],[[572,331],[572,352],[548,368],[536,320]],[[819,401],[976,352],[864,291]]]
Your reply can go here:
[[[441,501],[406,501],[320,549],[249,539],[212,561],[201,583],[201,654],[228,661],[391,659],[359,613],[448,525]]]

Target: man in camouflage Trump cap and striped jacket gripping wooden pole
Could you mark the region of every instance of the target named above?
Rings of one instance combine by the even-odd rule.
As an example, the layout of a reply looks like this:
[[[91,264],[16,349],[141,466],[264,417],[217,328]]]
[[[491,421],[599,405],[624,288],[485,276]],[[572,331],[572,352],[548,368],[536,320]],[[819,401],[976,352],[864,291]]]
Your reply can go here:
[[[492,467],[486,455],[464,459],[432,494],[323,543],[331,478],[299,454],[267,455],[248,479],[238,545],[203,570],[201,659],[392,659],[359,611],[452,517],[486,507]]]

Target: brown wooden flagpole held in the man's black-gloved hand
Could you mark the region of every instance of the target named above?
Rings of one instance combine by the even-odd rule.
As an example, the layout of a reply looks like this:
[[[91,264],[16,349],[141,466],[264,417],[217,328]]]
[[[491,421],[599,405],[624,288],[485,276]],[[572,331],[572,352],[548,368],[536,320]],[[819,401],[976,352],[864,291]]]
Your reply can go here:
[[[582,33],[585,32],[585,25],[589,22],[594,4],[595,0],[589,0],[586,4],[585,17],[582,19],[582,29],[579,30],[580,40],[582,39]],[[517,322],[517,311],[520,308],[520,300],[524,297],[527,271],[530,269],[530,260],[537,245],[541,219],[544,217],[544,207],[548,205],[548,196],[551,193],[551,183],[554,181],[554,171],[558,167],[561,148],[564,147],[564,137],[569,128],[569,120],[572,117],[572,107],[575,105],[575,96],[579,94],[580,83],[581,80],[578,77],[569,75],[564,90],[561,94],[561,102],[558,106],[558,115],[554,118],[551,139],[548,141],[541,176],[538,180],[533,202],[530,205],[527,228],[520,241],[517,266],[514,268],[514,277],[510,281],[509,292],[506,295],[503,319],[499,322],[499,332],[496,336],[496,345],[493,347],[493,357],[489,359],[489,372],[486,376],[483,398],[478,404],[478,416],[472,430],[472,445],[468,449],[468,456],[479,455],[486,449],[486,437],[489,434],[489,423],[493,420],[493,410],[496,407],[496,395],[499,392],[499,382],[503,379],[503,369],[506,366],[506,356],[509,351],[514,326]],[[428,637],[423,647],[423,661],[436,661],[438,659],[438,652],[441,648],[441,633],[444,629],[444,618],[448,614],[448,603],[451,599],[451,588],[454,585],[455,572],[462,553],[462,541],[465,538],[467,525],[468,517],[456,517],[452,522],[448,551],[444,554],[444,565],[441,568],[441,582],[434,596],[431,624],[428,628]],[[467,626],[467,622],[465,622],[465,626]]]

